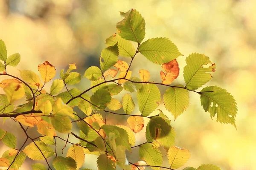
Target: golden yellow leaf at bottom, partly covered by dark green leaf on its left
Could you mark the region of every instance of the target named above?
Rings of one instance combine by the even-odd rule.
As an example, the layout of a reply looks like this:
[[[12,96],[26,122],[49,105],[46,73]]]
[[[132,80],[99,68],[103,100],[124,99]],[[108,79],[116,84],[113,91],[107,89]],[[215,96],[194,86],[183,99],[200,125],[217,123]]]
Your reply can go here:
[[[84,164],[84,150],[83,147],[73,144],[67,151],[67,156],[71,157],[76,161],[76,169],[78,170]]]

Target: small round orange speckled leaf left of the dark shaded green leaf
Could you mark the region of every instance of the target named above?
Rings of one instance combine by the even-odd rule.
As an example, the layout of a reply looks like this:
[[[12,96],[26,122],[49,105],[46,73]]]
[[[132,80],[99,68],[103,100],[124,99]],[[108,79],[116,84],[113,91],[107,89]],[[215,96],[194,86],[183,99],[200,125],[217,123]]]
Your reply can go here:
[[[127,123],[134,133],[138,133],[144,127],[144,119],[140,116],[130,116]]]

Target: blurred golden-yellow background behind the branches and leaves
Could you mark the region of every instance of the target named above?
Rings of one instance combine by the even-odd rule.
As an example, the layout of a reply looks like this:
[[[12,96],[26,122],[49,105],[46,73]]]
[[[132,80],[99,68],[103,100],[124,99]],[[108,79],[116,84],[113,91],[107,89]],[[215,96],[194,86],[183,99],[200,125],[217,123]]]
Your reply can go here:
[[[59,78],[61,69],[76,63],[77,71],[83,75],[88,67],[99,65],[105,39],[116,33],[116,23],[122,20],[119,11],[130,8],[136,8],[145,19],[144,40],[167,37],[184,55],[177,59],[180,76],[172,85],[184,84],[185,58],[193,52],[204,53],[217,65],[207,85],[225,88],[236,99],[237,130],[210,119],[198,94],[190,93],[189,108],[175,121],[162,101],[160,109],[176,130],[175,145],[191,152],[186,165],[197,168],[201,164],[215,164],[221,170],[256,170],[256,0],[0,0],[0,39],[6,43],[8,55],[20,53],[18,69],[37,72],[38,64],[49,61]],[[130,61],[127,57],[121,59]],[[139,69],[147,69],[151,81],[160,81],[160,65],[140,54],[134,60],[133,76],[139,75]],[[17,68],[9,68],[9,74],[19,76]],[[90,87],[90,82],[83,78],[76,87],[84,90]],[[159,88],[162,94],[166,90]],[[116,98],[121,101],[125,93]],[[136,94],[132,95],[136,101]],[[137,113],[138,106],[134,111]],[[127,118],[109,115],[107,123],[126,125]],[[17,136],[19,148],[25,137],[20,127],[12,120],[2,122],[1,128]],[[28,131],[38,136],[36,128]],[[136,134],[136,144],[145,142],[143,133],[145,128]],[[78,142],[73,138],[71,141]],[[61,150],[64,143],[59,143]],[[7,149],[0,142],[0,155]],[[138,161],[138,150],[133,152],[127,154],[129,161]],[[66,153],[67,149],[64,156]],[[96,158],[86,155],[84,167],[96,170]],[[163,165],[168,167],[167,158],[164,160]],[[32,169],[33,163],[26,158],[20,170]]]

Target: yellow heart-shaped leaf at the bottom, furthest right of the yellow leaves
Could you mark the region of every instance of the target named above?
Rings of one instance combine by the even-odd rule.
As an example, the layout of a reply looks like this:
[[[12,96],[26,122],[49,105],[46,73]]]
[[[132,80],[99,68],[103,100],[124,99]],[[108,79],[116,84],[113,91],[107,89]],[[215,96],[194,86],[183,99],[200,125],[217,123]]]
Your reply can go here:
[[[180,149],[179,147],[172,146],[169,148],[167,156],[171,165],[170,168],[177,169],[182,167],[186,161],[189,160],[190,152],[187,149]]]

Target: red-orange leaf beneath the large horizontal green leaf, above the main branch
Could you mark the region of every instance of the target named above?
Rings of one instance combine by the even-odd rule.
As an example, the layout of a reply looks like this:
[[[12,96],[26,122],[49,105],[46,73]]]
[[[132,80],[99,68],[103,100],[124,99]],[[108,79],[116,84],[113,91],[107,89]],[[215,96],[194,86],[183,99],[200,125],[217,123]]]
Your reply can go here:
[[[174,59],[170,62],[166,62],[162,65],[163,71],[160,72],[160,76],[163,84],[171,84],[179,75],[180,68],[177,60]]]

